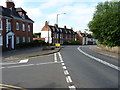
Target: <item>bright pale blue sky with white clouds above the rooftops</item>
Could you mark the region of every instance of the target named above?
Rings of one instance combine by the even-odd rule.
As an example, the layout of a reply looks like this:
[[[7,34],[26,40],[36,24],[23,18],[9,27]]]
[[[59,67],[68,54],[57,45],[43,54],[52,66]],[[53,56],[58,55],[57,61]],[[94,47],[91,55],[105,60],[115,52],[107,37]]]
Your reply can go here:
[[[34,33],[40,32],[45,21],[50,25],[56,23],[57,14],[59,27],[73,28],[74,31],[88,29],[95,7],[106,0],[13,0],[15,7],[22,7],[27,15],[35,21]],[[110,1],[110,0],[108,0]],[[6,0],[0,0],[5,6]],[[66,13],[66,14],[61,14]]]

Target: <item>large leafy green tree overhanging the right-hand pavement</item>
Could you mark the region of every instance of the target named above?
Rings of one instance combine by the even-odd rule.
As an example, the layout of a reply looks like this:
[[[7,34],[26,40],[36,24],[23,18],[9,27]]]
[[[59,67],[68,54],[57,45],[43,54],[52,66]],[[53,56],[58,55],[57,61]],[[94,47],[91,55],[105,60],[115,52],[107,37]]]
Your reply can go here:
[[[99,43],[120,46],[120,2],[99,3],[88,27]]]

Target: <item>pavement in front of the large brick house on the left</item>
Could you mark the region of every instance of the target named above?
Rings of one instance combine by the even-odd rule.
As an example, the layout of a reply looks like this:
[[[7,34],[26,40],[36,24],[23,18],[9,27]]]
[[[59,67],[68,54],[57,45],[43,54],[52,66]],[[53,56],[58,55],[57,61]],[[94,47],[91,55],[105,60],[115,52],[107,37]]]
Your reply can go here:
[[[61,48],[55,48],[54,50],[43,50],[43,47],[32,47],[19,50],[5,51],[2,53],[2,60],[17,60],[28,59],[36,56],[48,55],[58,52]]]

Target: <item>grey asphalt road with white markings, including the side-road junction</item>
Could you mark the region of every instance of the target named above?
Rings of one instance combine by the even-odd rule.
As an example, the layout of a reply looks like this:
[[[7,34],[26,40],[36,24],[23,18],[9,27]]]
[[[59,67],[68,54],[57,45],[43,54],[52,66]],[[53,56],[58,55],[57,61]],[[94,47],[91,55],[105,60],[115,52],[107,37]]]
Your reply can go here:
[[[119,86],[118,60],[89,46],[65,46],[51,55],[6,62],[1,69],[2,86],[8,88],[118,90]]]

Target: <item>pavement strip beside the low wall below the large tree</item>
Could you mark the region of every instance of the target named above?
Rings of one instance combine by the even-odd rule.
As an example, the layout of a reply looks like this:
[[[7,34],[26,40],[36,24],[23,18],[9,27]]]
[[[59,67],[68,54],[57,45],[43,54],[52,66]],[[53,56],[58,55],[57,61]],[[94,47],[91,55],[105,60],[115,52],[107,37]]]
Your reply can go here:
[[[97,47],[96,45],[95,46],[90,46],[89,49],[93,50],[94,52],[100,53],[102,55],[106,55],[106,56],[109,56],[109,57],[112,57],[112,58],[120,59],[120,57],[119,57],[120,54],[103,50],[103,49]]]

